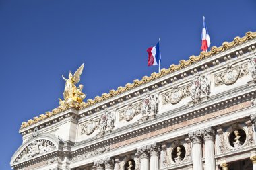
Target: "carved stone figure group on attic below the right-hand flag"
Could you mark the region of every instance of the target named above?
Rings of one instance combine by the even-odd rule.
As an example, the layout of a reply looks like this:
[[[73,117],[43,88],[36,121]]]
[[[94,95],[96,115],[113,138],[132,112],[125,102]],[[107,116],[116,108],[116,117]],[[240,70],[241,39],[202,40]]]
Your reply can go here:
[[[208,96],[210,94],[210,83],[204,75],[195,75],[191,80],[191,98],[198,99],[201,95]]]

